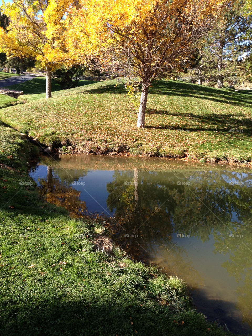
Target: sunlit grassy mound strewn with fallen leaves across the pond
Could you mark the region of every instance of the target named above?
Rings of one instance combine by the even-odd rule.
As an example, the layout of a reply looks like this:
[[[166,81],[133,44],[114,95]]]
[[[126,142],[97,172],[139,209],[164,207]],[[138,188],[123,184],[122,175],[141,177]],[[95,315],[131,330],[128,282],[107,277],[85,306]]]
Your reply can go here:
[[[246,163],[252,159],[251,103],[251,91],[159,80],[149,91],[145,128],[138,129],[127,90],[113,80],[54,91],[47,100],[33,94],[0,115],[46,145],[71,145],[68,151]]]

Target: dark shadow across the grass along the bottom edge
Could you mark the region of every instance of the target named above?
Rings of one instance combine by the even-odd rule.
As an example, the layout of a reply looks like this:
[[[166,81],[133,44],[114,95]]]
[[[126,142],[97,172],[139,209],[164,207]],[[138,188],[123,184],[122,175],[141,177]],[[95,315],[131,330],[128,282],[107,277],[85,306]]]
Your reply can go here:
[[[48,277],[48,286],[51,285]],[[67,279],[65,280],[67,281]],[[77,281],[77,279],[76,279]],[[24,287],[24,286],[23,286]],[[62,287],[62,284],[59,284]],[[38,291],[40,291],[38,287]],[[70,289],[69,289],[70,290]],[[209,335],[203,316],[196,312],[174,314],[163,305],[148,304],[144,300],[136,303],[134,297],[126,293],[116,293],[108,287],[106,292],[86,288],[83,294],[61,292],[52,288],[48,297],[34,300],[34,293],[27,293],[23,301],[19,295],[9,299],[2,312],[1,328],[3,336],[103,336],[103,335],[173,335],[195,336]],[[60,297],[59,297],[60,295]],[[20,300],[21,299],[21,300]],[[202,298],[211,308],[220,305],[217,299]],[[206,300],[206,301],[205,301]],[[140,304],[142,303],[142,304]],[[235,309],[230,302],[224,302],[227,311]],[[211,309],[209,309],[211,310]],[[247,331],[233,328],[237,321],[220,312],[220,324],[226,322],[231,331]],[[174,323],[174,320],[178,323]],[[184,321],[181,326],[181,321]],[[214,320],[214,319],[213,319]],[[239,321],[241,326],[241,321]],[[132,324],[131,324],[132,323]],[[195,328],[197,326],[197,328]],[[223,335],[212,328],[211,335]],[[235,330],[234,330],[235,329]],[[243,329],[243,328],[242,328]]]

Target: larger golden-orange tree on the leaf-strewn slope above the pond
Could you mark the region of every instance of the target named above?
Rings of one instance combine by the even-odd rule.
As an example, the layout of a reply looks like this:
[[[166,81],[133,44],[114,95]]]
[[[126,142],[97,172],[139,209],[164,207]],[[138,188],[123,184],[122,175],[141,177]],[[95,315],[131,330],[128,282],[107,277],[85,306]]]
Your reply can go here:
[[[230,5],[225,0],[80,0],[69,16],[70,48],[90,67],[140,77],[137,126],[144,127],[153,80],[180,68]]]

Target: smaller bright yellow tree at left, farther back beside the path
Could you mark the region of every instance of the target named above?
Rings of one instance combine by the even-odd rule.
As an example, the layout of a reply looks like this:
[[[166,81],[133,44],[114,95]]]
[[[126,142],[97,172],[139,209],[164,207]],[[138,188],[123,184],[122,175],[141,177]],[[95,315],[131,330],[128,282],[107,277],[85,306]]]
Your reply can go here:
[[[3,4],[8,30],[0,29],[0,50],[9,57],[29,57],[46,70],[46,98],[51,97],[51,72],[68,62],[65,17],[68,0],[14,0]]]

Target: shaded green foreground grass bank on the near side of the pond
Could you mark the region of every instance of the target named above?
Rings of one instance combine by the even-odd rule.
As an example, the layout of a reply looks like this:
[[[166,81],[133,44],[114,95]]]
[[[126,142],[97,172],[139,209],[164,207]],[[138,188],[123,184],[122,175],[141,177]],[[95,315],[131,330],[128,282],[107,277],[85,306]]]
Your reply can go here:
[[[224,336],[193,309],[181,280],[94,250],[102,227],[46,203],[27,174],[38,149],[0,124],[2,336]]]

